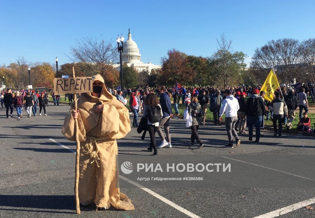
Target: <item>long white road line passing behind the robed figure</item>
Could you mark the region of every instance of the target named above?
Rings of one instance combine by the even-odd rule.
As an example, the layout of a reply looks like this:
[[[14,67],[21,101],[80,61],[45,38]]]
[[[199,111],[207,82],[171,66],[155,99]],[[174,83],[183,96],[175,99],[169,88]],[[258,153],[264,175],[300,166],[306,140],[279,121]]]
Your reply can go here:
[[[61,143],[59,143],[59,142],[57,142],[57,141],[55,141],[55,140],[53,140],[53,139],[49,139],[49,140],[52,141],[52,142],[54,142],[54,143],[56,143],[57,145],[60,145],[60,146],[63,147],[63,148],[66,148],[66,149],[72,151],[73,153],[76,153],[76,152],[77,152],[77,151],[75,151],[75,150],[73,150],[73,149],[71,149],[71,148],[69,148],[69,147],[67,147],[67,146],[64,146],[63,144],[61,144]],[[196,214],[194,214],[194,213],[192,213],[192,212],[186,210],[185,208],[182,208],[182,207],[179,206],[178,204],[175,204],[175,203],[171,202],[170,200],[164,198],[163,196],[161,196],[161,195],[159,195],[159,194],[153,192],[152,190],[150,190],[150,189],[148,189],[148,188],[146,188],[146,187],[144,187],[144,186],[141,186],[140,184],[138,184],[138,183],[136,183],[136,182],[134,182],[134,181],[132,181],[132,180],[129,180],[128,178],[126,178],[126,177],[124,177],[124,176],[122,176],[122,175],[119,175],[119,178],[121,178],[121,179],[123,179],[123,180],[125,180],[125,181],[127,181],[127,182],[129,182],[129,183],[131,183],[131,184],[133,184],[134,186],[136,186],[136,187],[142,189],[143,191],[148,192],[148,193],[151,194],[152,196],[154,196],[154,197],[156,197],[157,199],[163,201],[164,203],[170,205],[171,207],[173,207],[173,208],[179,210],[180,212],[186,214],[186,215],[189,216],[189,217],[192,217],[192,218],[201,218],[200,216],[198,216],[198,215],[196,215]]]

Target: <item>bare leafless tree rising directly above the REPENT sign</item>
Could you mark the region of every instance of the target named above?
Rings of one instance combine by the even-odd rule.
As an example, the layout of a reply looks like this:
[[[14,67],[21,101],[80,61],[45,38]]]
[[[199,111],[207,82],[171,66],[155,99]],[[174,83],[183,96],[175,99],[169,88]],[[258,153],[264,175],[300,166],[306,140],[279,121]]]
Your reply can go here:
[[[86,37],[77,41],[75,47],[71,46],[71,53],[67,57],[73,62],[82,62],[90,74],[99,73],[105,77],[106,72],[119,60],[117,48],[113,44],[112,40],[105,42],[102,37]]]

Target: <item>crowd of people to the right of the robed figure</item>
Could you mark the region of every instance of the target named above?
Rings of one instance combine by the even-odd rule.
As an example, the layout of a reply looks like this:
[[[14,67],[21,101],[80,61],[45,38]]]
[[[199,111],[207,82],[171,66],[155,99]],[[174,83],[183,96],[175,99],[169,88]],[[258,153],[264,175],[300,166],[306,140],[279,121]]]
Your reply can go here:
[[[152,118],[152,110],[154,109],[156,115],[160,114],[159,122],[151,122],[146,118],[147,131],[149,131],[151,142],[149,151],[154,150],[157,154],[156,148],[171,147],[171,134],[169,129],[170,118],[180,115],[178,105],[180,100],[185,104],[186,111],[184,112],[184,120],[187,121],[186,126],[190,127],[191,142],[189,146],[194,146],[197,141],[198,148],[203,146],[198,135],[199,125],[205,125],[206,113],[209,109],[213,113],[214,124],[221,125],[222,116],[225,114],[225,126],[228,136],[228,144],[226,147],[233,148],[233,137],[235,145],[239,146],[241,141],[238,137],[240,134],[247,134],[246,126],[248,126],[249,141],[259,143],[261,137],[260,130],[264,127],[264,118],[272,120],[274,136],[282,137],[282,127],[285,125],[287,130],[296,128],[299,134],[303,131],[310,132],[311,120],[307,117],[308,101],[307,96],[314,96],[313,86],[308,89],[307,93],[305,85],[301,87],[282,87],[274,93],[274,100],[266,101],[264,97],[265,91],[260,91],[261,86],[257,87],[229,87],[224,89],[221,87],[188,87],[181,89],[171,87],[166,89],[165,86],[159,86],[156,90],[146,87],[144,90],[134,89],[130,92],[129,112],[134,113],[133,126],[138,127],[138,114],[143,113],[143,118]],[[121,102],[126,105],[122,99],[123,91],[118,91],[121,96]],[[129,91],[127,91],[128,95]],[[116,93],[113,93],[115,95]],[[118,96],[118,95],[117,95]],[[160,100],[157,100],[160,97]],[[173,104],[175,114],[171,110],[171,100],[173,97]],[[118,99],[118,98],[117,98]],[[146,102],[149,99],[150,103]],[[299,124],[294,127],[292,125],[295,119],[295,111],[299,107]],[[304,113],[303,113],[304,110]],[[150,114],[150,116],[148,116]],[[156,121],[156,120],[155,120]],[[141,123],[141,121],[140,121]],[[315,124],[314,124],[315,125]],[[142,129],[143,127],[141,127]],[[163,135],[162,128],[164,128],[166,138]],[[145,129],[145,128],[144,128]],[[254,136],[255,129],[255,136]],[[146,132],[146,131],[145,131]],[[144,135],[145,135],[144,132]],[[158,133],[162,140],[160,146],[156,146],[155,132]],[[144,139],[142,135],[141,139]]]

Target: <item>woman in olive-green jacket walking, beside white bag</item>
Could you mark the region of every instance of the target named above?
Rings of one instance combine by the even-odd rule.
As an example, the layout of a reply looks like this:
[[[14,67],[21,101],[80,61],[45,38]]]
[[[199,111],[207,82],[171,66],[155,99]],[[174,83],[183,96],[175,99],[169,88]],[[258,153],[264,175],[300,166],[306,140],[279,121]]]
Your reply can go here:
[[[198,148],[201,148],[203,146],[203,143],[201,142],[198,135],[199,125],[202,121],[202,112],[200,110],[201,105],[198,103],[197,97],[193,96],[192,102],[188,105],[188,113],[192,116],[192,125],[190,126],[190,129],[192,130],[192,135],[190,136],[191,142],[189,143],[189,145],[194,146],[194,141],[196,140],[199,143]]]

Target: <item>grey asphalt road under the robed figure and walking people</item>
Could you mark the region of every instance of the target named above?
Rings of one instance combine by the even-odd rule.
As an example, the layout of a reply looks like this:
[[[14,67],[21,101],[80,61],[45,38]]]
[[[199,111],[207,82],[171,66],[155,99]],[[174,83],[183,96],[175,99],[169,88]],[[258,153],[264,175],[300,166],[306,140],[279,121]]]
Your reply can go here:
[[[151,193],[120,179],[120,191],[132,200],[135,210],[111,207],[96,212],[95,206],[87,206],[81,207],[81,214],[77,215],[73,194],[75,154],[52,141],[76,149],[61,134],[68,110],[66,105],[49,106],[47,117],[31,118],[23,111],[24,118],[17,120],[6,118],[0,108],[0,217],[194,217],[183,213],[186,209],[202,218],[253,218],[315,197],[315,138],[296,135],[276,138],[263,131],[265,137],[260,144],[247,141],[248,135],[243,135],[241,146],[229,149],[223,147],[227,143],[225,128],[207,123],[199,129],[205,146],[194,149],[187,146],[190,129],[183,121],[171,120],[172,148],[161,148],[157,156],[152,156],[146,151],[148,138],[141,141],[132,128],[124,139],[118,140],[119,161],[138,158],[165,163],[182,155],[187,159],[208,155],[231,163],[231,176],[222,179],[214,174],[211,182],[203,186],[196,183],[196,187],[186,183],[175,186],[135,181]],[[157,139],[157,144],[160,142]],[[132,176],[123,176],[133,180]],[[183,209],[175,209],[173,204],[154,197],[152,191]],[[315,208],[314,203],[310,206]],[[315,209],[301,207],[281,217],[315,217]]]

